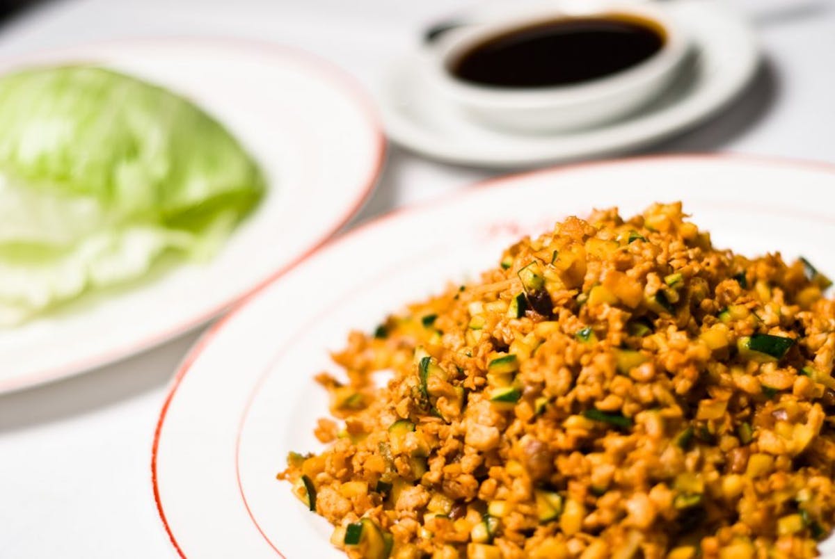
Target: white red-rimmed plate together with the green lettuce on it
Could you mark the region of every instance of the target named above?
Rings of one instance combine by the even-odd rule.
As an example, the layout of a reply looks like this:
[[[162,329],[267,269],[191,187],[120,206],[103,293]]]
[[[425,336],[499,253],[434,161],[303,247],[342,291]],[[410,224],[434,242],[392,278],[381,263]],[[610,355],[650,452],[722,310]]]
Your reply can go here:
[[[0,392],[204,324],[345,224],[382,164],[356,86],[266,43],[99,43],[0,70]]]

